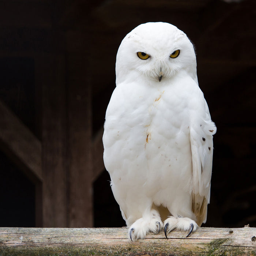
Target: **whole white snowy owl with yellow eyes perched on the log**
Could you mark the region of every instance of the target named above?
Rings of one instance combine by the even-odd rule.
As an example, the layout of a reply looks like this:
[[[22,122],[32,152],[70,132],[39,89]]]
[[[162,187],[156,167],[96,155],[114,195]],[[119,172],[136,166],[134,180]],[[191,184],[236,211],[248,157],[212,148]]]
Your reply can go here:
[[[116,56],[116,88],[104,124],[104,163],[131,240],[206,222],[212,135],[184,32],[163,22],[128,33]]]

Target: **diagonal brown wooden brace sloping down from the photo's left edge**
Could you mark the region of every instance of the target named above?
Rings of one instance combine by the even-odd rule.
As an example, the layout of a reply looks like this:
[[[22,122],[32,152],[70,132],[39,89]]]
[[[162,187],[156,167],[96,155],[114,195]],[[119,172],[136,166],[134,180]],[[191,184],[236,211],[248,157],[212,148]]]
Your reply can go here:
[[[33,180],[42,181],[41,142],[0,101],[0,148]]]

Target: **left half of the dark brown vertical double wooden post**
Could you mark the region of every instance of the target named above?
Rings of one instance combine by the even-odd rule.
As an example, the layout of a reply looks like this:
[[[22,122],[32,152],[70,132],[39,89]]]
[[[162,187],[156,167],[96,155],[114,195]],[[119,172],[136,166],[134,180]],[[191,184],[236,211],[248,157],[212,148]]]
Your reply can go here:
[[[42,88],[42,211],[44,227],[67,227],[67,131],[64,55],[35,59]]]

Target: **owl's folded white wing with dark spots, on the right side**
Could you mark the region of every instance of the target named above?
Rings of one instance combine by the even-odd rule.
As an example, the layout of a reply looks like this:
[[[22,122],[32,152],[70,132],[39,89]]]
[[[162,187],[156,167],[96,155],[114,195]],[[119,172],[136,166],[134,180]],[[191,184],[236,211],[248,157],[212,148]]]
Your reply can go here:
[[[216,126],[205,101],[206,118],[190,127],[190,143],[192,153],[192,211],[199,226],[206,222],[207,204],[210,203],[211,172],[212,172],[212,135]]]

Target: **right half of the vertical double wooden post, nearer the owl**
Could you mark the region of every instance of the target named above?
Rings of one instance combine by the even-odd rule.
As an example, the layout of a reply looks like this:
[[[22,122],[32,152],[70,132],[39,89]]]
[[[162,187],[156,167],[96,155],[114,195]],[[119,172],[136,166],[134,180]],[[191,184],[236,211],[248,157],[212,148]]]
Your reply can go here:
[[[86,54],[68,53],[68,227],[93,227],[91,87],[87,62]]]

